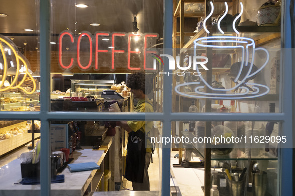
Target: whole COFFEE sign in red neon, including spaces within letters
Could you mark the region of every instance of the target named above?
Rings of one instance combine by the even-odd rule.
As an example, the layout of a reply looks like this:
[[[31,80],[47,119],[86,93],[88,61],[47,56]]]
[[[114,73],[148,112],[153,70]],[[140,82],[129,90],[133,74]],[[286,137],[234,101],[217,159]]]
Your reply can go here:
[[[64,31],[58,38],[59,65],[63,69],[71,69],[76,63],[81,70],[99,70],[101,66],[114,70],[119,64],[130,71],[153,70],[152,65],[147,65],[146,56],[152,53],[147,48],[155,45],[158,37],[155,33],[96,32],[92,35],[87,31],[75,36],[70,31]],[[65,62],[67,51],[76,53]]]

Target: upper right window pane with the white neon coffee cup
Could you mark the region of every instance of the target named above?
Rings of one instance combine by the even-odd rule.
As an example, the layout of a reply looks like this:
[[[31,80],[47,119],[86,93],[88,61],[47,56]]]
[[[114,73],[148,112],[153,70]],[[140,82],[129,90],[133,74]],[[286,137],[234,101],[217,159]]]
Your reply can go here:
[[[187,112],[186,105],[190,104],[186,102],[187,98],[201,102],[199,112],[204,106],[202,101],[206,99],[212,100],[212,104],[235,100],[237,111],[242,113],[268,113],[269,103],[276,103],[278,109],[275,112],[281,112],[278,102],[283,70],[280,64],[280,13],[274,13],[274,18],[266,22],[259,9],[265,6],[262,5],[264,2],[249,4],[241,0],[237,6],[232,3],[213,2],[208,5],[212,21],[207,22],[212,25],[206,27],[203,25],[205,18],[200,18],[195,31],[188,30],[189,27],[196,28],[189,14],[197,16],[204,7],[184,3],[184,30],[179,29],[182,21],[176,20],[174,26],[173,57],[178,67],[172,76],[173,112]],[[280,10],[280,5],[274,4],[274,9]],[[222,12],[226,12],[226,17]],[[253,101],[257,102],[259,110],[247,108]],[[226,103],[225,106],[229,105]],[[213,111],[208,108],[206,112]]]

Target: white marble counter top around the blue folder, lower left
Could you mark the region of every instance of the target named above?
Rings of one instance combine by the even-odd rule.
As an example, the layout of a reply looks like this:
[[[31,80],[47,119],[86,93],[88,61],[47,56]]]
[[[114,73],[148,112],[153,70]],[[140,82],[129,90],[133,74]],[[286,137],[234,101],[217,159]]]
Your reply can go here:
[[[105,142],[111,145],[111,138]],[[104,143],[105,143],[104,142]],[[92,150],[90,147],[82,147],[73,153],[74,160],[71,163],[84,163],[94,161],[98,165],[104,159],[107,150]],[[97,170],[73,172],[65,168],[62,173],[65,176],[64,183],[51,184],[51,194],[54,196],[83,196]],[[21,181],[20,160],[15,159],[0,168],[0,196],[37,196],[40,195],[40,185],[15,184]]]

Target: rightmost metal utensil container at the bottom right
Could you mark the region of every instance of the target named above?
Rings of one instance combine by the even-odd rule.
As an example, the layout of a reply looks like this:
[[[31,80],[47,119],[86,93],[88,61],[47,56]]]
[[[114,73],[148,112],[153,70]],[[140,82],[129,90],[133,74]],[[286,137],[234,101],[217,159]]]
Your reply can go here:
[[[266,189],[267,189],[267,173],[263,172],[262,174],[259,173],[252,173],[252,193],[253,196],[265,196]]]

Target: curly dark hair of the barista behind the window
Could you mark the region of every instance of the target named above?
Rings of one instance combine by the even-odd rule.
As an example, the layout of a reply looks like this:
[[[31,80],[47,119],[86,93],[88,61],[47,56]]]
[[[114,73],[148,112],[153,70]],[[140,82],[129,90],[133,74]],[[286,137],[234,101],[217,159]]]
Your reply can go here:
[[[127,87],[141,90],[144,94],[149,94],[152,90],[152,79],[144,72],[136,72],[128,75]]]

